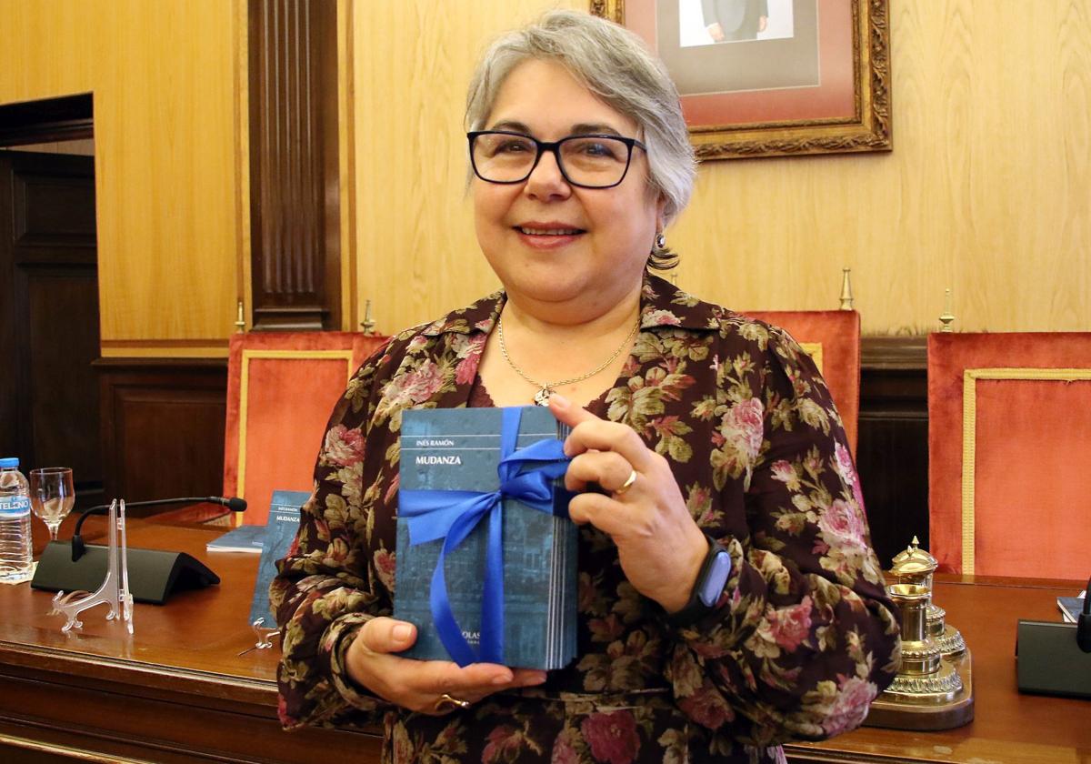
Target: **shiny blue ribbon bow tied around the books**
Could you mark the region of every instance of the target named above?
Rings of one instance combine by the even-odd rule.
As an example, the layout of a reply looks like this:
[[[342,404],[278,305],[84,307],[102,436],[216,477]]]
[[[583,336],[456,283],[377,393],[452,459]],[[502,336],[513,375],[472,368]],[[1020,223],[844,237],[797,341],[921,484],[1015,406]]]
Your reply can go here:
[[[553,480],[568,468],[563,443],[547,438],[518,451],[518,407],[504,408],[500,433],[500,464],[496,474],[500,488],[495,491],[407,491],[398,492],[398,515],[406,520],[409,544],[416,546],[443,539],[440,559],[432,574],[429,605],[432,622],[440,641],[459,666],[484,661],[504,661],[504,547],[503,501],[514,499],[544,512],[567,516],[567,509],[554,512]],[[524,471],[525,469],[525,471]],[[480,652],[475,653],[463,636],[463,630],[451,610],[443,561],[458,548],[483,518],[488,517],[483,598],[481,601]]]

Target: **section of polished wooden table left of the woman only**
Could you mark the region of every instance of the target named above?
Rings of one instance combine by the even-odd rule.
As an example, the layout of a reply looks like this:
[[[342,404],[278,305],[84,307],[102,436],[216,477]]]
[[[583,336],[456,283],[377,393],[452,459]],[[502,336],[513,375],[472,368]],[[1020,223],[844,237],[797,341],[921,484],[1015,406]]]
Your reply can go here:
[[[100,537],[103,526],[88,520],[84,537]],[[62,634],[64,619],[48,614],[50,593],[0,585],[0,762],[71,761],[85,751],[107,761],[313,762],[319,752],[379,761],[373,735],[280,729],[279,649],[239,655],[254,644],[247,617],[259,556],[206,553],[225,532],[130,520],[130,547],[189,552],[220,576],[165,606],[137,602],[133,636],[106,621],[103,606],[83,614],[80,633]]]

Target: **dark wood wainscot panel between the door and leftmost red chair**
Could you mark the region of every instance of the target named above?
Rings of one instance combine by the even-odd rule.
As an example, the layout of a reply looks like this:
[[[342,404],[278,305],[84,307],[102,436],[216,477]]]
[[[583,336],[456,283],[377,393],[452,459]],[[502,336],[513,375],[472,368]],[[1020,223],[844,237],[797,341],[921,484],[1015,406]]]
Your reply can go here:
[[[106,497],[219,496],[227,362],[110,358],[96,366]]]

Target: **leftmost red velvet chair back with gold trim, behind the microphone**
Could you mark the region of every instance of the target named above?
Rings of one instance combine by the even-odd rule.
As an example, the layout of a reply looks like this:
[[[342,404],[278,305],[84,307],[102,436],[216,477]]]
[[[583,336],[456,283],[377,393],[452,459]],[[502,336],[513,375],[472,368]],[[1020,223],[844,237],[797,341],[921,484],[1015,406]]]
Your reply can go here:
[[[310,491],[326,421],[349,377],[385,337],[250,332],[231,337],[224,496],[264,524],[274,490]]]

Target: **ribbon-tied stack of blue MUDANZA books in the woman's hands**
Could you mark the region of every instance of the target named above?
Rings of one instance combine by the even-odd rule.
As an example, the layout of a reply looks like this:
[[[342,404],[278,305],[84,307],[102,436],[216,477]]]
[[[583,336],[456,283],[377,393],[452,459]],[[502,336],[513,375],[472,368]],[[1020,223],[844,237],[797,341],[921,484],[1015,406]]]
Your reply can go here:
[[[496,491],[503,409],[407,410],[401,418],[399,504],[405,491]],[[549,409],[521,409],[516,450],[563,437]],[[567,518],[571,494],[563,479],[552,481],[554,512],[503,500],[503,662],[555,669],[576,655],[577,529]],[[404,511],[404,508],[403,508]],[[451,660],[432,622],[432,576],[443,539],[411,545],[409,522],[399,512],[394,617],[417,626],[417,642],[405,653],[419,659]],[[481,636],[482,584],[488,520],[448,553],[444,576],[452,612],[470,648]]]

